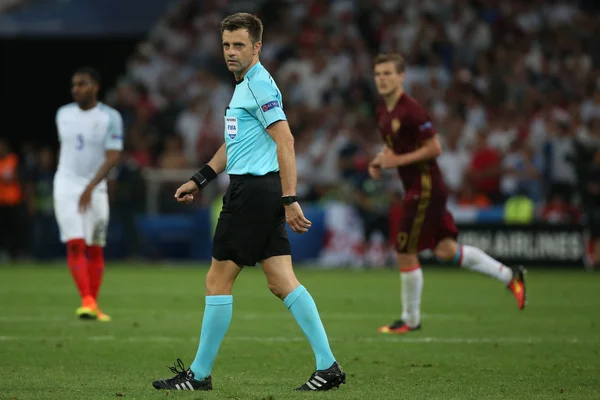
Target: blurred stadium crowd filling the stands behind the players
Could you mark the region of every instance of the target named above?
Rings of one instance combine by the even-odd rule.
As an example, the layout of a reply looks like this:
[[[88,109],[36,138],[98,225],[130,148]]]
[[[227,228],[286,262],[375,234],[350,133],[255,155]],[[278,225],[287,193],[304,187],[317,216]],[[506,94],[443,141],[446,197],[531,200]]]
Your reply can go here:
[[[106,99],[126,126],[114,177],[127,184],[113,209],[137,203],[142,169],[196,168],[221,145],[234,84],[219,22],[243,9],[265,25],[261,62],[283,93],[305,202],[352,199],[371,225],[386,224],[402,188],[366,173],[381,146],[372,57],[396,51],[407,61],[406,91],[429,109],[442,140],[454,206],[524,206],[531,212],[521,222],[595,227],[598,8],[566,0],[183,0],[140,43]]]

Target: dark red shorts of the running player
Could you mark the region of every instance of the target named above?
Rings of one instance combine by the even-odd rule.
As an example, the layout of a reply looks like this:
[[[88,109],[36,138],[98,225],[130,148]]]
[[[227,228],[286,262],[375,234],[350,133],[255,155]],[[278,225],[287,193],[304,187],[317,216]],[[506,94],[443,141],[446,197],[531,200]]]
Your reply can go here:
[[[433,250],[443,239],[458,237],[454,218],[446,209],[445,195],[407,193],[401,208],[396,236],[399,253]]]

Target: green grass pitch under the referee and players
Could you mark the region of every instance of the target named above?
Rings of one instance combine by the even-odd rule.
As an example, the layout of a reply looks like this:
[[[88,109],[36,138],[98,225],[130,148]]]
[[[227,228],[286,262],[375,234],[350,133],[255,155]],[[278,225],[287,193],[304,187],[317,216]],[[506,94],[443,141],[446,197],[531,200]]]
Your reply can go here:
[[[233,320],[210,393],[156,391],[196,352],[202,267],[109,263],[101,305],[113,322],[79,321],[66,266],[0,268],[0,399],[593,399],[600,398],[600,276],[528,274],[519,312],[492,279],[425,269],[423,330],[383,336],[399,314],[392,270],[297,268],[348,382],[293,389],[313,372],[308,342],[262,272],[234,288]]]

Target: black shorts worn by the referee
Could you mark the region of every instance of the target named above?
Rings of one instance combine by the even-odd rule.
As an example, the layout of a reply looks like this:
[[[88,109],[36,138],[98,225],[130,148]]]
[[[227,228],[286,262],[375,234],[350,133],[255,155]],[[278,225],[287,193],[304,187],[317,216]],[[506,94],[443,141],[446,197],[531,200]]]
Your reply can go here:
[[[290,255],[278,172],[230,175],[213,240],[212,255],[240,266]]]

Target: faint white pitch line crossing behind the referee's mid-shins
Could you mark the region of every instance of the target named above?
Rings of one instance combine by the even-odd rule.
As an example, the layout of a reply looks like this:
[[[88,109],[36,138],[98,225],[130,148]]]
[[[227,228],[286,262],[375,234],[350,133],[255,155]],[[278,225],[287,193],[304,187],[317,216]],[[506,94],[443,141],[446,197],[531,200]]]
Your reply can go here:
[[[165,343],[165,342],[197,342],[198,337],[179,337],[179,336],[132,336],[117,337],[107,336],[88,336],[88,337],[34,337],[34,336],[0,336],[0,342],[22,342],[22,341],[94,341],[94,342],[129,342],[129,343]],[[295,343],[304,342],[306,338],[302,336],[231,336],[225,337],[225,341],[233,342],[258,342],[258,343]],[[333,338],[331,341],[339,342]],[[353,339],[344,339],[345,342],[389,342],[389,343],[407,343],[407,344],[486,344],[486,343],[506,343],[506,344],[533,344],[533,343],[558,343],[558,344],[600,344],[598,340],[588,340],[579,338],[547,339],[539,337],[479,337],[479,338],[452,338],[452,337],[398,337],[398,336],[379,336],[379,337],[359,337]]]

